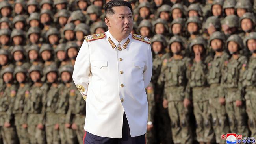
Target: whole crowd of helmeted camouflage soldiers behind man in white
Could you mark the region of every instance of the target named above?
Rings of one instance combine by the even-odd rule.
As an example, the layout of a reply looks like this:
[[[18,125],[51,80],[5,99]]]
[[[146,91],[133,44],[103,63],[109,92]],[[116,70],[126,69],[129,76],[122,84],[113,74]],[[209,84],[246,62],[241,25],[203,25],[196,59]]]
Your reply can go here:
[[[0,1],[0,144],[83,144],[72,71],[84,36],[108,30],[109,0]],[[152,46],[147,143],[256,137],[256,2],[127,1]]]

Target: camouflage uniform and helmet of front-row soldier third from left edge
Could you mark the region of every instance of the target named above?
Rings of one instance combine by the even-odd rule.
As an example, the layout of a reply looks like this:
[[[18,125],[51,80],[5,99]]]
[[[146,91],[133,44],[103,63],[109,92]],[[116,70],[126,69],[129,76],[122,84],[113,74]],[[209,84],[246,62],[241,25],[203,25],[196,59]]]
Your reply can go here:
[[[33,71],[40,72],[42,74],[42,68],[39,66],[32,65],[28,70],[28,76]],[[45,144],[45,128],[39,129],[37,128],[38,124],[45,124],[45,120],[43,118],[42,107],[44,103],[44,93],[46,92],[46,88],[43,87],[43,83],[37,82],[33,83],[28,92],[25,92],[25,101],[26,105],[24,107],[22,121],[26,122],[28,125],[28,135],[31,144]]]

